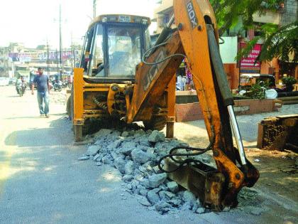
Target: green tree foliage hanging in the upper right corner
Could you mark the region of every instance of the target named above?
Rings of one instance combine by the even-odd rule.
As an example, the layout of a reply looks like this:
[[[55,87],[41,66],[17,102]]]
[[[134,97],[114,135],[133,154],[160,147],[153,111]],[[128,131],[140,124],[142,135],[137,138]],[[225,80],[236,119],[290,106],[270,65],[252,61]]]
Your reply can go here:
[[[253,14],[265,15],[267,11],[278,11],[282,9],[284,0],[211,0],[210,2],[216,15],[219,35],[222,35],[228,28],[235,26],[240,19],[243,21],[243,29],[255,28]],[[297,62],[297,21],[281,27],[266,23],[259,28],[260,36],[250,40],[246,47],[240,50],[237,60],[247,56],[255,43],[262,38],[265,42],[257,60],[280,58],[283,61],[289,61],[289,55],[291,55],[293,62]]]

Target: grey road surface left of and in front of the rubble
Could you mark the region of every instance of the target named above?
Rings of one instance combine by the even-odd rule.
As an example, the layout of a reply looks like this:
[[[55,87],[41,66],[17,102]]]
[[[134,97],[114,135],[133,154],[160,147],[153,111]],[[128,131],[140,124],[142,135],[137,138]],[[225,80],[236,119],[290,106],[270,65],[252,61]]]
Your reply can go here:
[[[0,223],[295,223],[296,203],[258,185],[258,203],[267,206],[261,215],[148,210],[123,191],[114,168],[77,160],[86,146],[73,144],[61,93],[51,93],[48,119],[39,117],[30,93],[18,97],[14,87],[0,87]],[[185,137],[187,125],[176,126],[177,136]]]

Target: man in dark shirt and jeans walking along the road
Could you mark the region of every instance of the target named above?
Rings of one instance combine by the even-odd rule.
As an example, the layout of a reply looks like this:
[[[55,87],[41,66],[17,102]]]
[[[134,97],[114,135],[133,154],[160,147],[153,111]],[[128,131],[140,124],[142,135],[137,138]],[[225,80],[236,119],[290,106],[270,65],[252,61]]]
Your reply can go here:
[[[35,76],[31,87],[32,95],[34,95],[34,85],[37,85],[38,90],[38,107],[40,117],[49,117],[49,95],[50,85],[48,75],[43,75],[43,68],[38,68],[38,75]],[[45,107],[43,107],[43,102]]]

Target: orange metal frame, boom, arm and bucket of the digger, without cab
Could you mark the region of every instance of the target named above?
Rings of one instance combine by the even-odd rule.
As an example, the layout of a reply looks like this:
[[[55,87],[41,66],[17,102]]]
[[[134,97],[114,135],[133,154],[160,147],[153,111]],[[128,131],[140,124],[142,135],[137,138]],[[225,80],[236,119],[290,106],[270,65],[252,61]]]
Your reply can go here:
[[[217,170],[209,172],[204,170],[204,167],[194,168],[188,164],[170,176],[185,188],[197,193],[206,206],[216,210],[223,206],[236,206],[238,191],[243,186],[253,186],[259,174],[249,161],[245,167],[237,166],[239,154],[233,147],[228,111],[223,107],[219,84],[215,79],[209,55],[206,22],[214,25],[214,36],[217,39],[215,17],[209,1],[203,0],[175,0],[174,11],[178,31],[172,33],[167,38],[167,43],[157,48],[146,60],[153,63],[177,53],[187,55]],[[127,111],[115,107],[117,91],[111,90],[111,85],[84,82],[82,70],[75,71],[75,118],[86,118],[87,110],[88,116],[100,116],[94,112],[101,106],[99,102],[94,102],[92,93],[96,92],[109,92],[109,114],[116,111],[124,115],[126,111],[128,123],[149,120],[153,114],[174,117],[173,85],[169,84],[171,80],[173,82],[173,76],[182,59],[180,55],[155,65],[140,63],[136,68],[136,82],[130,87],[130,92],[126,93],[125,89],[120,91],[124,98],[119,102],[125,105]],[[167,126],[167,135],[171,136],[173,125],[170,119]]]

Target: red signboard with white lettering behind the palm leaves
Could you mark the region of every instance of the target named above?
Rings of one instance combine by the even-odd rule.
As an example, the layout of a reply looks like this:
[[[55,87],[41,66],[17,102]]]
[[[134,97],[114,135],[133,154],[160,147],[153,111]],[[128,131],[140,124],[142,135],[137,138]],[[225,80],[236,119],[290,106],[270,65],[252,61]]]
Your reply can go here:
[[[245,48],[246,43],[240,43],[241,48]],[[260,62],[255,61],[255,58],[260,54],[262,45],[260,43],[255,44],[253,50],[251,50],[250,54],[247,58],[242,58],[240,61],[241,68],[258,68],[260,69]]]

